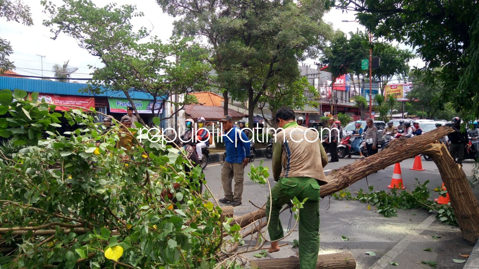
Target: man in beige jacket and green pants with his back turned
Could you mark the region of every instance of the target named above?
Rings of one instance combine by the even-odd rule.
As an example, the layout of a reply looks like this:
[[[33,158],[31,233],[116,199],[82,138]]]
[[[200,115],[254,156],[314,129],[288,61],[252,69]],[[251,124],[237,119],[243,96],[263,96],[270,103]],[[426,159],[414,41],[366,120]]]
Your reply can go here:
[[[284,237],[279,220],[282,206],[295,196],[300,202],[308,198],[299,210],[299,266],[314,269],[319,251],[319,185],[328,183],[323,171],[328,156],[318,132],[298,125],[292,109],[280,108],[274,119],[280,129],[273,144],[273,176],[278,183],[271,190],[271,204],[270,197],[266,202],[267,217],[271,210],[270,240]],[[268,252],[279,249],[277,241],[271,242]]]

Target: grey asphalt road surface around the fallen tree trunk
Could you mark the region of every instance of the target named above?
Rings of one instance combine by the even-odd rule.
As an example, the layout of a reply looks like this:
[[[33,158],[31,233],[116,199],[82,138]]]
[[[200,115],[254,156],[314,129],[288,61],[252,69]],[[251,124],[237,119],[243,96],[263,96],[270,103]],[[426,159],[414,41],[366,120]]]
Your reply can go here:
[[[355,160],[354,156],[330,163],[326,167],[325,173],[328,174],[332,169],[341,168]],[[263,166],[272,170],[271,159],[259,157],[253,164],[257,166],[261,161],[263,161]],[[416,178],[421,183],[430,180],[428,188],[431,190],[442,184],[434,162],[425,161],[422,158],[424,171],[410,170],[413,162],[414,158],[411,158],[400,163],[406,190],[414,189],[413,184],[416,182]],[[471,177],[472,162],[465,161],[463,165],[466,175]],[[247,176],[249,167],[250,165],[245,168],[243,204],[234,208],[235,216],[256,210],[257,208],[250,201],[261,207],[269,194],[267,185],[260,186],[249,180]],[[214,163],[205,169],[207,185],[217,199],[223,197],[220,179],[221,168],[222,164]],[[367,191],[367,184],[375,186],[375,190],[389,190],[387,186],[391,182],[393,169],[394,165],[369,175],[367,180],[359,180],[347,190],[352,194],[359,189]],[[273,187],[275,182],[272,176],[269,178],[269,182]],[[479,198],[479,187],[473,188],[473,191],[476,198]],[[432,194],[433,198],[437,198],[435,197],[437,195],[436,192]],[[353,196],[355,195],[353,194]],[[319,202],[319,211],[321,241],[319,254],[350,251],[356,259],[357,269],[432,268],[429,265],[421,264],[422,261],[437,262],[437,269],[479,269],[479,243],[476,244],[476,247],[468,244],[462,239],[461,231],[457,226],[440,223],[435,214],[429,213],[427,210],[399,210],[397,217],[386,218],[373,210],[367,210],[367,204],[363,202],[341,201],[325,197]],[[283,228],[286,229],[291,214],[286,210],[280,217]],[[295,222],[295,219],[292,218],[290,226],[293,227]],[[293,240],[298,239],[296,230],[297,228],[290,236],[279,242],[280,245],[285,243],[288,245],[282,247],[278,252],[267,254],[266,258],[297,256],[298,249],[292,247]],[[269,238],[268,235],[265,236]],[[342,241],[342,236],[348,237],[349,240]],[[256,245],[256,239],[256,235],[245,238],[245,245]],[[299,244],[301,245],[301,242]],[[269,243],[263,247],[269,247]],[[426,248],[431,248],[432,251],[424,251],[423,249]],[[243,247],[240,250],[244,249],[246,248]],[[376,256],[365,254],[367,251],[375,252]],[[258,259],[253,257],[258,252],[245,253],[242,256],[247,259]],[[463,258],[460,255],[470,255],[470,257]],[[453,259],[467,260],[467,262],[456,263]],[[397,262],[399,265],[390,265],[389,262]]]

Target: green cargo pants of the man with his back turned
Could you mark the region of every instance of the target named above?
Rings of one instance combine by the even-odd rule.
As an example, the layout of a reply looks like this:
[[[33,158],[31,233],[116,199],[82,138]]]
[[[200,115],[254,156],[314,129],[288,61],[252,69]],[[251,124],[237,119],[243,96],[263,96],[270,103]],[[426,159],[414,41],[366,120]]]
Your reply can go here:
[[[319,252],[319,185],[316,179],[296,177],[280,178],[271,190],[266,202],[266,217],[271,210],[271,219],[268,225],[270,240],[274,241],[284,236],[283,226],[279,219],[279,212],[283,205],[294,197],[302,202],[304,208],[299,210],[299,268],[314,269]]]

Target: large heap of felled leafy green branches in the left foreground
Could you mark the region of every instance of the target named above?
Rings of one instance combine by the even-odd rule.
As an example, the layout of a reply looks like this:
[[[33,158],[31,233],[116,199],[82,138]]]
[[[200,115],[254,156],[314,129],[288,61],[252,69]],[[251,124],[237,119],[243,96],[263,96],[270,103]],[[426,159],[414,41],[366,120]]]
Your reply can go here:
[[[0,154],[0,248],[9,249],[0,267],[113,268],[103,252],[119,246],[118,261],[135,268],[212,268],[221,242],[241,239],[210,194],[197,194],[202,169],[178,149],[143,139],[125,151],[115,146],[125,135],[120,124],[103,130],[96,111],[58,113],[22,90],[8,92],[0,91],[0,134],[26,146]],[[59,134],[59,117],[80,128]]]

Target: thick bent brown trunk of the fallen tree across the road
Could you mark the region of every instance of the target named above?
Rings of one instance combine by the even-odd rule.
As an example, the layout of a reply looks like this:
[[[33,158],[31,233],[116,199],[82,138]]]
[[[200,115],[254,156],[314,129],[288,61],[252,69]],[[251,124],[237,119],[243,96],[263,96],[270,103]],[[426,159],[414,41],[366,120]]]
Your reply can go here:
[[[377,154],[332,170],[326,177],[329,183],[321,186],[320,196],[325,197],[343,190],[378,170],[425,153],[433,158],[439,168],[445,187],[450,193],[451,205],[456,213],[457,224],[463,238],[469,243],[475,244],[479,239],[478,201],[472,193],[464,171],[457,166],[445,146],[436,143],[436,140],[453,131],[453,128],[443,126],[412,138],[403,137],[393,140],[388,148]],[[241,227],[244,227],[265,216],[266,210],[263,208],[235,217],[235,220],[241,223]]]

